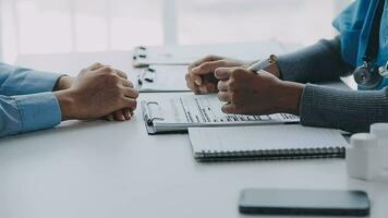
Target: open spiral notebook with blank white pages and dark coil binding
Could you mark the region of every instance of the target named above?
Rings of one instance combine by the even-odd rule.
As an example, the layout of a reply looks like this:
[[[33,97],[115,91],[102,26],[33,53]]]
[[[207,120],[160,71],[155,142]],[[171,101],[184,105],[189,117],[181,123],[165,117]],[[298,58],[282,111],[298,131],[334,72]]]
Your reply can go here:
[[[198,161],[343,158],[348,142],[337,130],[291,125],[190,128]]]

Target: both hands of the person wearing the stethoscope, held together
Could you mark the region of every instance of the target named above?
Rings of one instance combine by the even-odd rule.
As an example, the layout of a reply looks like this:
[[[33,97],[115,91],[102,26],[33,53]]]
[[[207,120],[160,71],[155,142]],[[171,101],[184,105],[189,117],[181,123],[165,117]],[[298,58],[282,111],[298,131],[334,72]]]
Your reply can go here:
[[[254,74],[245,66],[242,61],[206,57],[189,66],[186,83],[196,94],[218,92],[226,113],[299,114],[304,85],[279,80],[279,72],[259,71]]]

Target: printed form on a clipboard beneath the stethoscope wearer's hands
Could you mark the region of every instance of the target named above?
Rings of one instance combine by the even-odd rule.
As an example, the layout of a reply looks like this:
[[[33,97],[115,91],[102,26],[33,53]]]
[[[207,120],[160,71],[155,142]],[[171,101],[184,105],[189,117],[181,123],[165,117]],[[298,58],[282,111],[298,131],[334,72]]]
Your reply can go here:
[[[184,95],[168,100],[142,101],[149,133],[186,131],[189,126],[250,125],[299,122],[292,114],[227,114],[217,95]],[[149,130],[150,129],[150,130]]]

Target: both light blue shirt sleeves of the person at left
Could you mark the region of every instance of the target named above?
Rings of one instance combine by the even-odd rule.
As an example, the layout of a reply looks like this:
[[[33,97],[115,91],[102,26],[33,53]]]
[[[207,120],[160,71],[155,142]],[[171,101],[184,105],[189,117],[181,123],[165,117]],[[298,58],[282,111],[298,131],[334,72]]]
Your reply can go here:
[[[0,63],[0,137],[61,122],[60,106],[51,93],[59,77]]]

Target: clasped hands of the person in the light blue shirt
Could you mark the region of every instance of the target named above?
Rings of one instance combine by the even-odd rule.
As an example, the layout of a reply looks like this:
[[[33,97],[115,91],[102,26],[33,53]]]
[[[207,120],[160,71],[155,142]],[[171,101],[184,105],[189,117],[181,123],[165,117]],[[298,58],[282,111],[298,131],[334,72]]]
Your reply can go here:
[[[62,120],[98,119],[114,111],[136,109],[137,90],[110,66],[94,64],[81,71],[70,88],[54,92]]]

